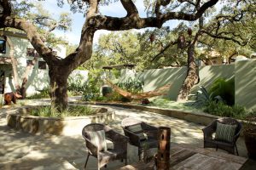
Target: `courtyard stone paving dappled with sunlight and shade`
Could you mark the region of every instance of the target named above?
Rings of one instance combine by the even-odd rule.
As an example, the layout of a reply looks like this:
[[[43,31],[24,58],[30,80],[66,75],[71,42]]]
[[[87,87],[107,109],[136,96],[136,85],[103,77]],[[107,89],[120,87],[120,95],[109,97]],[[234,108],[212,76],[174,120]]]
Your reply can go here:
[[[33,101],[30,105],[47,102],[49,101]],[[194,144],[202,147],[201,128],[203,126],[201,125],[146,111],[112,106],[109,106],[108,109],[116,113],[116,120],[109,126],[119,133],[123,133],[120,122],[125,117],[132,116],[156,127],[171,127],[173,143]],[[5,120],[6,113],[15,110],[1,109],[0,111],[0,169],[83,169],[87,155],[82,136],[32,135],[16,132],[6,126]],[[240,155],[246,156],[243,139],[239,139],[237,144]],[[128,162],[132,163],[137,160],[137,148],[129,145]],[[107,168],[103,167],[102,169],[115,169],[122,165],[124,165],[123,162],[114,161],[114,163],[108,164]],[[96,169],[96,158],[90,157],[86,169]]]

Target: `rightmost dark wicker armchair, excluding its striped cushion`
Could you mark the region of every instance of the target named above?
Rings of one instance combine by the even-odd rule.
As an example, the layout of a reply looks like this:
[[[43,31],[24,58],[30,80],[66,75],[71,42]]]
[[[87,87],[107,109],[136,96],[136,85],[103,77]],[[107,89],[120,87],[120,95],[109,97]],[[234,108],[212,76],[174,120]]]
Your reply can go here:
[[[217,139],[212,138],[212,134],[216,133],[217,128],[217,122],[223,123],[223,124],[230,124],[230,125],[237,125],[236,126],[236,133],[233,138],[232,142],[225,142],[225,141],[219,141]],[[210,125],[202,129],[204,133],[204,148],[216,148],[216,150],[226,150],[231,154],[238,154],[238,150],[236,147],[236,140],[238,139],[240,132],[241,132],[241,122],[237,122],[236,119],[232,119],[229,117],[219,118],[215,121],[213,121]]]

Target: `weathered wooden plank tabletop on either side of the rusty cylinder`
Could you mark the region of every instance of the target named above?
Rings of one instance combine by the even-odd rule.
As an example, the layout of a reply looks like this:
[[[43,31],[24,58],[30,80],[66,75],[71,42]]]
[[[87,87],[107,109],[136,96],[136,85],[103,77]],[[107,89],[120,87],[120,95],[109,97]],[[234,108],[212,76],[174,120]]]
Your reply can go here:
[[[245,157],[197,148],[189,144],[172,144],[170,156],[172,170],[238,170],[247,161]],[[148,164],[139,162],[119,170],[151,170],[153,167],[154,161]]]

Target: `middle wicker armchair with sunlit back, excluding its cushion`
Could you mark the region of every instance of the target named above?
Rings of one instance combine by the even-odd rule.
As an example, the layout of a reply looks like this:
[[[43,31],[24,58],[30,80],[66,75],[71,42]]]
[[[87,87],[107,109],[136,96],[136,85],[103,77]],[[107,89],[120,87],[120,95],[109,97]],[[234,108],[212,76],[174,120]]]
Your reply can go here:
[[[143,133],[147,134],[148,139],[141,140],[139,138],[139,135],[136,133],[132,133],[128,128],[140,124]],[[145,122],[138,121],[135,118],[127,117],[122,121],[121,124],[125,136],[127,136],[130,139],[130,144],[135,145],[138,147],[138,156],[139,160],[143,158],[143,152],[144,150],[150,149],[150,148],[157,148],[158,147],[158,128],[148,125]]]

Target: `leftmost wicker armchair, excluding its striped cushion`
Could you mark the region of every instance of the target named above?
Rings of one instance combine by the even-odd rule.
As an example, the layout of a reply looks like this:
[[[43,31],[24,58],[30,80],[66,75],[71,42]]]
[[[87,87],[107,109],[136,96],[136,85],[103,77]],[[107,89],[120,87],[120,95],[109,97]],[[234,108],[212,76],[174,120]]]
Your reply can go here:
[[[89,131],[99,131],[104,130],[106,139],[111,140],[113,142],[113,150],[98,150],[97,146],[92,144],[90,142],[90,139],[88,139],[88,135],[86,132]],[[107,166],[107,163],[109,161],[114,160],[121,160],[125,159],[125,165],[127,163],[127,143],[128,138],[125,137],[122,134],[116,133],[108,126],[105,126],[100,123],[91,123],[89,125],[86,125],[82,130],[82,135],[85,139],[85,145],[88,149],[88,156],[86,158],[84,169],[87,165],[87,161],[89,159],[89,156],[95,156],[98,161],[98,169],[103,167],[104,165]]]

